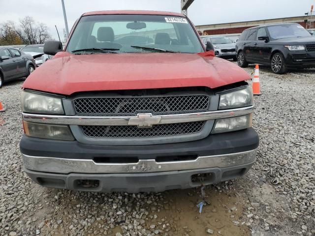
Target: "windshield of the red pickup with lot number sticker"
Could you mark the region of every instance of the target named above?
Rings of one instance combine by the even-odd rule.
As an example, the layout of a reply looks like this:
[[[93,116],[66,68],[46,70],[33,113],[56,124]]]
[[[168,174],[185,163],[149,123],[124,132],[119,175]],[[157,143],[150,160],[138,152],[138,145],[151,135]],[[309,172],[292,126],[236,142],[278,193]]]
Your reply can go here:
[[[66,51],[78,53],[81,49],[115,50],[116,53],[204,52],[186,18],[160,15],[84,16],[76,26]],[[91,53],[91,50],[84,53]],[[93,53],[104,51],[95,50]]]

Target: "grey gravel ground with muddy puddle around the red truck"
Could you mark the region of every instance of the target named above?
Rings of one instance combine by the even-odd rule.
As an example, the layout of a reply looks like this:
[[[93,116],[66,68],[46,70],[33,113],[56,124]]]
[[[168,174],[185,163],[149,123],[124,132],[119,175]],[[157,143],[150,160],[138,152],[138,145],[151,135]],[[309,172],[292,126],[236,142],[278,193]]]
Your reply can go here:
[[[253,66],[246,68],[253,72]],[[23,172],[19,140],[22,81],[0,101],[0,235],[275,236],[315,235],[315,70],[275,75],[260,69],[254,99],[258,156],[243,178],[163,193],[86,193],[48,189]]]

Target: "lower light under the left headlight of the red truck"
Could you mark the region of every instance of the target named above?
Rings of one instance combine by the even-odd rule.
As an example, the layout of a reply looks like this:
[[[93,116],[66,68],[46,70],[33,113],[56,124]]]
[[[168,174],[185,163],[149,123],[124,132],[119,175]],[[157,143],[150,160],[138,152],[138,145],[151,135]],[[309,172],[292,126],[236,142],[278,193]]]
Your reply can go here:
[[[23,121],[27,136],[43,139],[57,139],[73,141],[73,135],[67,125],[39,124]]]

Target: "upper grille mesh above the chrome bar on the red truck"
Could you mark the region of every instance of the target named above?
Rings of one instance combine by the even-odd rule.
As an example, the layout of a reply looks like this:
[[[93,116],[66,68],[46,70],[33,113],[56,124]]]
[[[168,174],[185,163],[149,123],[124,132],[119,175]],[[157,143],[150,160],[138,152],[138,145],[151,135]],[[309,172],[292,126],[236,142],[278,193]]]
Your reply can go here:
[[[77,98],[73,101],[76,114],[134,115],[138,111],[154,114],[176,114],[206,111],[207,95],[181,95],[161,97],[103,97]]]

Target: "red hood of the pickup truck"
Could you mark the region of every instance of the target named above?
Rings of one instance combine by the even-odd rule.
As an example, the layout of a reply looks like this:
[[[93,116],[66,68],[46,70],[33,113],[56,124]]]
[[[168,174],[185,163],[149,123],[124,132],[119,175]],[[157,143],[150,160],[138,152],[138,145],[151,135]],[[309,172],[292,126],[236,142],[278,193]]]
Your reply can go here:
[[[209,52],[92,55],[61,52],[37,68],[23,88],[63,95],[121,89],[199,86],[213,89],[251,78],[236,64],[209,55]]]

